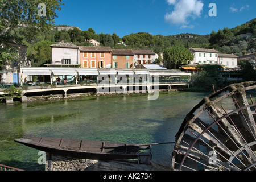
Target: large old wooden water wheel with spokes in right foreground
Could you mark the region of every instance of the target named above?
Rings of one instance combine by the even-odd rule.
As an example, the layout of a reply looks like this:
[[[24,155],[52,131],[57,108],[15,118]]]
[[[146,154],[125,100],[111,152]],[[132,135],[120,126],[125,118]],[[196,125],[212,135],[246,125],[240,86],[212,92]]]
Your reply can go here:
[[[172,170],[256,170],[255,89],[232,84],[197,104],[176,134]]]

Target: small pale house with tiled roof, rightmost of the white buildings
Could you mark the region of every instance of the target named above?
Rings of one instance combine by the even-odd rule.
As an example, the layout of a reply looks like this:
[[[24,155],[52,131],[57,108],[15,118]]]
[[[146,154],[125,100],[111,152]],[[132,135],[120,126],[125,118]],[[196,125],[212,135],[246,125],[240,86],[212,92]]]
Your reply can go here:
[[[224,65],[226,68],[238,68],[237,59],[238,56],[233,54],[218,54],[218,64]]]

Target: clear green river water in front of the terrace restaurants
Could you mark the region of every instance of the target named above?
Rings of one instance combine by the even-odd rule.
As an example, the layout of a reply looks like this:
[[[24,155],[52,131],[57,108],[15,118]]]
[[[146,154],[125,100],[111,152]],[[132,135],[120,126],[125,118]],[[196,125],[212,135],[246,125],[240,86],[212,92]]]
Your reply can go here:
[[[174,142],[185,115],[205,93],[95,96],[90,99],[0,105],[0,164],[44,170],[38,150],[13,140],[28,135],[122,143]],[[152,146],[152,160],[171,165],[174,144]]]

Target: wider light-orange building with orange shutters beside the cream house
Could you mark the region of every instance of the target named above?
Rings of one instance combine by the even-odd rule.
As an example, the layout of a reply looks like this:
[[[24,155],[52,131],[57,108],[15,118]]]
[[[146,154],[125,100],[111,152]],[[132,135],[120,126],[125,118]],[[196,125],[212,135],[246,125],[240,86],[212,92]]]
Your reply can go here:
[[[111,47],[80,46],[81,68],[111,68]]]

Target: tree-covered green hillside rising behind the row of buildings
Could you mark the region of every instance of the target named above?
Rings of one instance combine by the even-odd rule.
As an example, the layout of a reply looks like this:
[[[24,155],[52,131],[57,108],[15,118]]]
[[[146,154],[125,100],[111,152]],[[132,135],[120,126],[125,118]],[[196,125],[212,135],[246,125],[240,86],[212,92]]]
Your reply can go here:
[[[153,49],[160,53],[173,45],[185,48],[214,48],[221,53],[234,53],[242,56],[256,50],[256,19],[241,26],[224,28],[209,35],[178,34],[178,35],[151,35],[147,32],[132,33],[120,38],[117,34],[96,34],[93,28],[81,30],[79,27],[59,25],[48,32],[38,32],[31,36],[22,28],[16,29],[13,34],[23,38],[28,46],[28,59],[32,65],[40,66],[51,60],[51,55],[45,56],[43,52],[49,51],[49,46],[59,42],[71,42],[78,46],[92,46],[86,39],[95,39],[101,46],[110,46],[112,49]],[[121,42],[125,44],[120,44]]]

